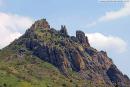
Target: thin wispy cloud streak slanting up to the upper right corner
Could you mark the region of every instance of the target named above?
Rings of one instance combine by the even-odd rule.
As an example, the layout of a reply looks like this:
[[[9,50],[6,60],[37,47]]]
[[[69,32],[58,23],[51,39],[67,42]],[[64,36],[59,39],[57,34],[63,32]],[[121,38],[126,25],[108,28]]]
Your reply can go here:
[[[100,22],[113,21],[127,16],[130,16],[130,2],[124,3],[124,6],[117,11],[106,12],[103,16],[99,17],[96,21],[87,24],[87,27],[95,26],[97,23]]]

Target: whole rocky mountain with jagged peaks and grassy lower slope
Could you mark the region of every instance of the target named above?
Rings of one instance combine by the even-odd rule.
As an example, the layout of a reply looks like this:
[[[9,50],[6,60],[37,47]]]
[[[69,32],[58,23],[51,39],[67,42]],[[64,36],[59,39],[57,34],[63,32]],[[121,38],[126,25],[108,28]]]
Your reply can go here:
[[[91,47],[84,32],[69,36],[65,26],[55,30],[46,19],[2,49],[0,60],[0,76],[16,80],[0,79],[1,86],[22,87],[23,81],[27,87],[130,87],[129,78],[106,52]]]

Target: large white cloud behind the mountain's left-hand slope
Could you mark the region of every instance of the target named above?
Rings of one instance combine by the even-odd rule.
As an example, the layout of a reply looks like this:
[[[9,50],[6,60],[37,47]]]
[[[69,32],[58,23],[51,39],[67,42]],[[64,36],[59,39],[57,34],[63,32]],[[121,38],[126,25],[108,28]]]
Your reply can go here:
[[[0,48],[21,36],[32,22],[29,17],[0,12]]]

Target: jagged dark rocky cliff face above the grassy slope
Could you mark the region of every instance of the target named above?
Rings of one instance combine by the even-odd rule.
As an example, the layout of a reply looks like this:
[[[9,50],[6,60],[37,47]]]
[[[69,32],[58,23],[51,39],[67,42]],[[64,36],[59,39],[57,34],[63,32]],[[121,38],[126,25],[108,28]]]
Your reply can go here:
[[[130,87],[129,78],[118,70],[106,52],[91,47],[82,31],[76,31],[76,37],[69,36],[65,26],[58,31],[42,19],[8,48],[14,50],[15,46],[21,46],[15,49],[18,55],[23,56],[28,50],[57,67],[66,78],[72,78],[71,70],[82,80],[91,81],[92,87]]]

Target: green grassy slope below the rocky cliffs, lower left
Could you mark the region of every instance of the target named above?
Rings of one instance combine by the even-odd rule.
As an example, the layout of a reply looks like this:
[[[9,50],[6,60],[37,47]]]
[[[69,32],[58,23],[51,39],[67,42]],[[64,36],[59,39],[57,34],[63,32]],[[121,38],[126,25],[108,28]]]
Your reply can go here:
[[[8,54],[8,55],[7,55]],[[66,78],[56,67],[26,54],[22,57],[10,50],[0,52],[0,87],[80,87],[91,85],[70,70]],[[91,86],[89,86],[91,87]]]

